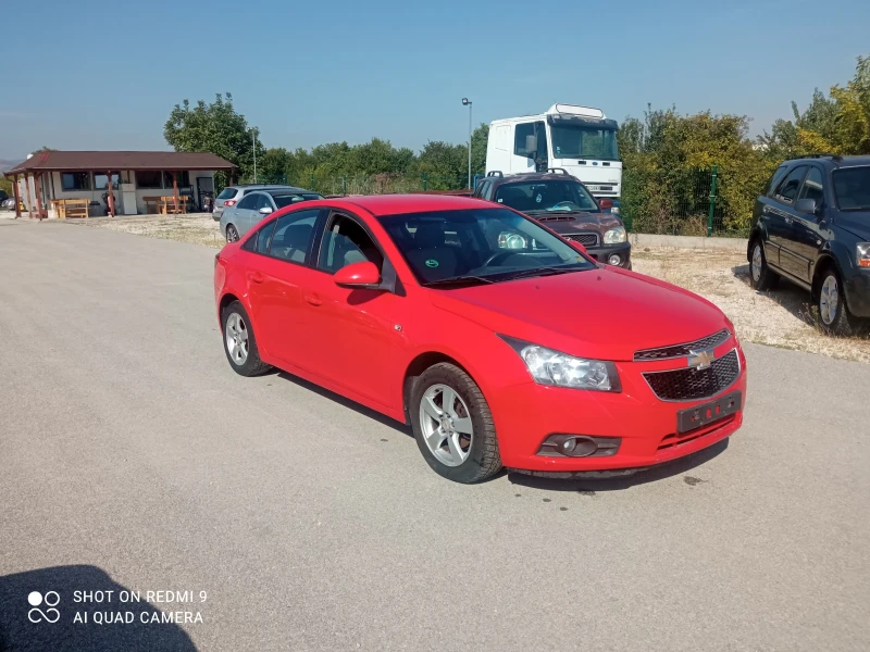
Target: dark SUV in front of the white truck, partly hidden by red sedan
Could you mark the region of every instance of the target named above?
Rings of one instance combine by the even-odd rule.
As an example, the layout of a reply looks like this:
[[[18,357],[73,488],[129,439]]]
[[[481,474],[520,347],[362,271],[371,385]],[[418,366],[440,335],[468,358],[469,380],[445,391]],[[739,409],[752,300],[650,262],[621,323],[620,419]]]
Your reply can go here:
[[[473,196],[525,213],[566,240],[580,242],[601,263],[632,268],[632,246],[622,221],[602,212],[580,179],[564,170],[508,176],[490,172]]]

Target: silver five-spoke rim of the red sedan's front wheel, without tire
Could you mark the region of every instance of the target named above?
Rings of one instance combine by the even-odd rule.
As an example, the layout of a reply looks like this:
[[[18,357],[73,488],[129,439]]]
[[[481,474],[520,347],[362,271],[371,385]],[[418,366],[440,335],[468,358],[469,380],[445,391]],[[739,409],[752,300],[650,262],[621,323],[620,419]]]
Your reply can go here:
[[[420,428],[428,450],[445,466],[468,460],[474,427],[468,405],[446,385],[433,385],[420,400]]]

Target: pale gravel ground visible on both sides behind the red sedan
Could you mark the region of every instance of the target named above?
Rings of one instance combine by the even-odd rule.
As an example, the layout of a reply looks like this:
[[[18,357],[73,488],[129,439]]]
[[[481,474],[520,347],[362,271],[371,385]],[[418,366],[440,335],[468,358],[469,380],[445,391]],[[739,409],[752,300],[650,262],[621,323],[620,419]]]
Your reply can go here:
[[[210,214],[101,217],[87,222],[151,238],[178,240],[220,249],[224,239]],[[809,296],[783,283],[773,292],[757,292],[749,285],[749,264],[735,251],[647,247],[632,252],[634,269],[684,287],[712,301],[734,322],[744,341],[820,353],[831,358],[870,362],[870,339],[833,338],[821,333]]]

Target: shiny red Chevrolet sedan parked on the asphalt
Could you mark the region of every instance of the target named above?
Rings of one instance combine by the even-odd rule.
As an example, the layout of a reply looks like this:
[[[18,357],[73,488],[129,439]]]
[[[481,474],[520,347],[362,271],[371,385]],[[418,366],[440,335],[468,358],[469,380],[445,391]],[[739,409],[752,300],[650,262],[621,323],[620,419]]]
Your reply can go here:
[[[277,211],[216,255],[214,292],[233,369],[410,424],[459,482],[636,469],[743,422],[746,360],[719,309],[475,199]]]

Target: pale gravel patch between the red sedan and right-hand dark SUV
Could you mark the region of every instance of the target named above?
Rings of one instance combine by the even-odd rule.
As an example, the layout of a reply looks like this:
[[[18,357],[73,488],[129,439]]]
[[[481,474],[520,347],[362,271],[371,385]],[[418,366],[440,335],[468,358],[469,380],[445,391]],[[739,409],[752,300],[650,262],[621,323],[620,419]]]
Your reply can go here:
[[[870,362],[867,337],[836,338],[821,331],[808,292],[786,281],[771,292],[756,291],[742,252],[647,247],[632,250],[632,260],[636,272],[716,303],[744,341]]]

